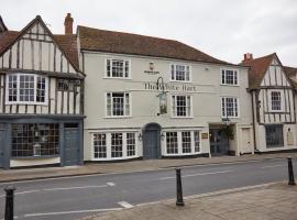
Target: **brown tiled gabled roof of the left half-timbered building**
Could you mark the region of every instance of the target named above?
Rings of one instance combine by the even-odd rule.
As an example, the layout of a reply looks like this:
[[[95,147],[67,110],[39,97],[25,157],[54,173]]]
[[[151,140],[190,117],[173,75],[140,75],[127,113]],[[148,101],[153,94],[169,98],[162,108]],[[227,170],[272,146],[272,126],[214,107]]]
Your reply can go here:
[[[46,30],[46,32],[52,36],[54,43],[61,48],[61,51],[64,53],[66,58],[72,63],[74,68],[77,72],[79,70],[79,64],[78,64],[78,50],[77,50],[77,37],[76,34],[67,34],[67,35],[54,35],[52,32],[47,29],[45,23],[43,22],[42,18],[37,15],[34,20],[32,20],[22,31],[6,31],[2,34],[0,34],[0,55],[2,55],[7,50],[14,44],[14,42],[20,38],[23,33],[28,29],[30,29],[35,22],[40,22],[43,28]]]

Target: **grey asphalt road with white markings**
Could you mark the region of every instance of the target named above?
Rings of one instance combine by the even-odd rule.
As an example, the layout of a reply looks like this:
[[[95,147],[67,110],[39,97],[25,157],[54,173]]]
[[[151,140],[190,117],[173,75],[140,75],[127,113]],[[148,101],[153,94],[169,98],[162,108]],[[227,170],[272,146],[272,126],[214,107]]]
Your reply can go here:
[[[297,174],[297,160],[294,160]],[[296,176],[296,175],[295,175]],[[287,179],[286,160],[183,168],[184,196]],[[15,216],[28,220],[79,219],[108,210],[175,198],[175,169],[13,183]],[[0,220],[4,212],[0,184]]]

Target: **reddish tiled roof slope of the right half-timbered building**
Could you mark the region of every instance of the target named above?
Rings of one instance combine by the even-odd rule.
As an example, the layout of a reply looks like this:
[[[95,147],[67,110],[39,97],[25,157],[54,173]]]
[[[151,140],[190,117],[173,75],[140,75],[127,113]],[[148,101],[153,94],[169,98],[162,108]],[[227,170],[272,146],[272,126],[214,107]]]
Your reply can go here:
[[[258,88],[261,81],[276,54],[270,54],[260,58],[254,58],[250,61],[243,61],[241,64],[244,66],[250,66],[249,70],[249,88]]]

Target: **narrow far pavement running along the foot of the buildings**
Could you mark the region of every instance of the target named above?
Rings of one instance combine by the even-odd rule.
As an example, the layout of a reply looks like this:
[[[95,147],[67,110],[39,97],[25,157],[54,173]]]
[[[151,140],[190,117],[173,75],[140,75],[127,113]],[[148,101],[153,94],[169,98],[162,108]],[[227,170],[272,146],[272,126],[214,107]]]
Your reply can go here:
[[[118,162],[118,163],[86,164],[84,166],[72,166],[72,167],[25,168],[25,169],[9,169],[9,170],[0,169],[0,183],[63,177],[63,176],[156,170],[161,168],[170,168],[178,166],[286,158],[287,156],[297,158],[297,153],[220,156],[211,158],[200,157],[200,158],[177,158],[177,160],[147,160],[147,161],[145,160],[145,161]]]

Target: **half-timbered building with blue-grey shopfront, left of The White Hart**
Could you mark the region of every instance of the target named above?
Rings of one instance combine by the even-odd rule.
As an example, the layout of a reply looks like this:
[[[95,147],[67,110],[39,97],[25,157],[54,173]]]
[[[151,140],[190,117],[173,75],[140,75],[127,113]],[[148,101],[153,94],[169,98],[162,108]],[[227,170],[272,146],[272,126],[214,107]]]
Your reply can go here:
[[[73,19],[54,35],[41,16],[22,31],[0,19],[0,167],[82,163],[84,74]]]

